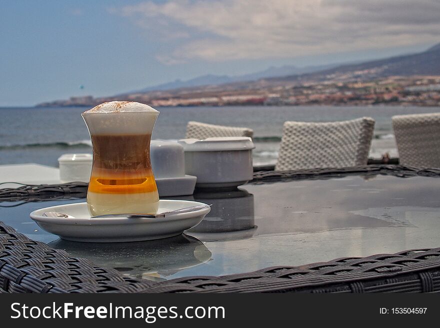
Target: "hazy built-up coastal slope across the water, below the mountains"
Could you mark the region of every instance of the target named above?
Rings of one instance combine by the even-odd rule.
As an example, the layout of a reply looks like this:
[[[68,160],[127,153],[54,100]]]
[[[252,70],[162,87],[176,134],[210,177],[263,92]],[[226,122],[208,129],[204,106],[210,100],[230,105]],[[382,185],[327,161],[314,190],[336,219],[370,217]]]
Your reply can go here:
[[[235,86],[235,87],[234,87]],[[246,87],[247,86],[247,87]],[[439,106],[440,75],[389,76],[373,80],[296,81],[294,83],[234,83],[166,91],[128,93],[119,96],[71,97],[43,102],[35,107],[93,107],[113,100],[147,103],[155,107],[246,105],[349,105],[376,104]]]

